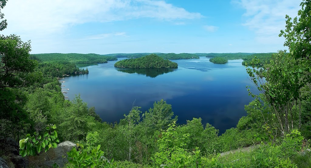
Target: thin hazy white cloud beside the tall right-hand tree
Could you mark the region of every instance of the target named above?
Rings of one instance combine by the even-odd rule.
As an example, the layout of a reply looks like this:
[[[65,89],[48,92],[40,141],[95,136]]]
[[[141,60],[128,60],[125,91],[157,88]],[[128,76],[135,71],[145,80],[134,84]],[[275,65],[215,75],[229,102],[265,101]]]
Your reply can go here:
[[[285,29],[285,15],[294,18],[300,9],[300,0],[239,0],[233,1],[243,7],[245,22],[255,32],[255,39],[264,44],[282,44],[284,38],[278,37]]]

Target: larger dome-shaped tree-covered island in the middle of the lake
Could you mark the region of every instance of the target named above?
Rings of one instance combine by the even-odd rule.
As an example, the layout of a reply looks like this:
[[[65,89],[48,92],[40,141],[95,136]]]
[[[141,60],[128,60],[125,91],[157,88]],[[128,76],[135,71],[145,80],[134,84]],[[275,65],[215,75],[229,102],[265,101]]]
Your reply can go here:
[[[114,64],[119,68],[177,68],[178,64],[170,60],[150,54],[140,58],[124,59]]]

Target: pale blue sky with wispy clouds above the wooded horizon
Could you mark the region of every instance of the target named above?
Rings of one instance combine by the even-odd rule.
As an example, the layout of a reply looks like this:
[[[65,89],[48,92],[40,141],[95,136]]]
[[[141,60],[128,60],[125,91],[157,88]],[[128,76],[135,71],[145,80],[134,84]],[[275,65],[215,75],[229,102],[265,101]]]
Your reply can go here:
[[[301,0],[9,0],[7,29],[39,53],[267,53],[286,50]]]

